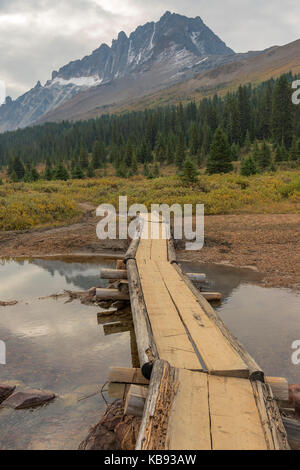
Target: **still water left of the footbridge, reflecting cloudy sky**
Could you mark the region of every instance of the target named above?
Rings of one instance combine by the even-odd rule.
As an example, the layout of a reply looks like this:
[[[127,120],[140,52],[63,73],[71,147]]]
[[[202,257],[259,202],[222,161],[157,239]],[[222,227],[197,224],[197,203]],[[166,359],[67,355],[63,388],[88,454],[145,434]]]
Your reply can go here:
[[[101,418],[105,405],[99,388],[109,367],[132,366],[131,333],[106,336],[97,322],[99,307],[38,297],[100,285],[100,269],[112,266],[51,260],[0,265],[0,299],[26,299],[0,308],[0,338],[7,346],[0,383],[59,396],[34,411],[0,409],[0,449],[76,449]]]

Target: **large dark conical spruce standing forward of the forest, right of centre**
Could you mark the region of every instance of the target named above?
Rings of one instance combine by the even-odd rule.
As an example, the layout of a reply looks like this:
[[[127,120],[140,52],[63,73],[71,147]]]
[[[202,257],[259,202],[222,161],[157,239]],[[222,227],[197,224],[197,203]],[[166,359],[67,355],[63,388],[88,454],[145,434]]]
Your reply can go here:
[[[228,139],[221,127],[218,127],[214,134],[207,161],[207,172],[212,175],[214,173],[229,173],[232,170],[233,166]]]

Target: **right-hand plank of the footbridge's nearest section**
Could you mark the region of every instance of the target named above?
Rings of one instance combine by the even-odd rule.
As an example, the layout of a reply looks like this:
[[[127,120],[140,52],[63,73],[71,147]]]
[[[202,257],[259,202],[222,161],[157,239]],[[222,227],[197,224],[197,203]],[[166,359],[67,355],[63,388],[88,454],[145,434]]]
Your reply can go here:
[[[213,450],[267,450],[250,381],[210,376],[208,387]]]

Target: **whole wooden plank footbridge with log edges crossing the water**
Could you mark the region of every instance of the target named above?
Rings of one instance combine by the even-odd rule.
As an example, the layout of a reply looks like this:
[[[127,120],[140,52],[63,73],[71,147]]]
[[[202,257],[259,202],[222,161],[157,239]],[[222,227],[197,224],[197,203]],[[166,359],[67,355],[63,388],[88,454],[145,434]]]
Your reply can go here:
[[[263,371],[181,271],[166,230],[144,216],[125,256],[139,360],[152,368],[136,449],[288,449]]]

